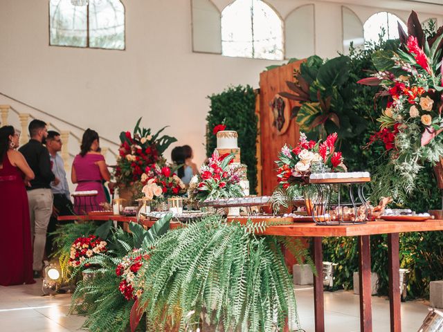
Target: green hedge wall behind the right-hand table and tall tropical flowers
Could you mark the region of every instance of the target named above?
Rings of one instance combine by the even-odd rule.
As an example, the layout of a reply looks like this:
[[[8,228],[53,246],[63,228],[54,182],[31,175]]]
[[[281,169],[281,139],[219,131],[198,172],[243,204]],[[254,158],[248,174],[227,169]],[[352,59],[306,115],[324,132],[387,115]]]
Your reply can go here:
[[[377,86],[363,86],[356,84],[363,77],[369,77],[371,71],[375,71],[371,55],[374,50],[396,49],[398,41],[381,42],[371,45],[365,50],[352,50],[350,57],[350,73],[346,86],[346,93],[356,115],[366,122],[366,129],[362,133],[341,140],[341,151],[345,157],[345,163],[350,171],[368,171],[374,174],[379,165],[386,162],[385,149],[382,142],[377,142],[370,149],[365,149],[370,136],[379,131],[377,118],[386,104],[377,100],[374,103],[374,95],[378,91]],[[338,91],[343,94],[343,91]],[[348,124],[352,126],[351,124]],[[342,129],[345,130],[345,129]],[[386,169],[386,172],[391,172]],[[395,174],[392,174],[392,177]],[[430,165],[424,167],[417,178],[417,187],[413,194],[403,198],[401,208],[410,208],[417,212],[426,212],[441,207],[441,192],[437,190],[437,184]],[[377,203],[377,202],[372,202]],[[408,282],[409,297],[424,297],[428,294],[428,285],[432,280],[443,279],[441,245],[443,232],[404,233],[400,234],[401,267],[410,268],[411,275]],[[440,244],[439,244],[440,243]],[[323,240],[323,256],[325,261],[334,261],[339,264],[336,273],[335,284],[352,288],[352,273],[358,271],[358,251],[356,250],[356,238],[327,238]],[[388,293],[388,246],[386,236],[371,237],[372,271],[379,273],[379,293]],[[438,265],[440,264],[440,265]],[[438,266],[437,266],[438,265]]]

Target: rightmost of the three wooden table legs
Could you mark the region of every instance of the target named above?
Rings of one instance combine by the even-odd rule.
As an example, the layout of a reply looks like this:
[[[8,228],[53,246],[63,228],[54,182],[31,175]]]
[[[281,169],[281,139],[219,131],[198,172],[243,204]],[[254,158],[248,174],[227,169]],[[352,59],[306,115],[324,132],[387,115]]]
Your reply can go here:
[[[399,233],[388,234],[390,331],[401,332]]]

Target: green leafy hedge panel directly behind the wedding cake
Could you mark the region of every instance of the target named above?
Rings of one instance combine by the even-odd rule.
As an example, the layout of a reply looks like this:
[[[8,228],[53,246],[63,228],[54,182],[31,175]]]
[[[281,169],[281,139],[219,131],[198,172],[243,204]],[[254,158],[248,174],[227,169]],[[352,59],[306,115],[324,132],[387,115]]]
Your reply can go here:
[[[208,96],[210,111],[206,117],[206,156],[213,154],[217,137],[213,128],[225,120],[226,130],[238,133],[238,145],[242,163],[248,166],[248,180],[251,194],[257,186],[257,116],[255,115],[255,93],[251,86],[232,86],[222,93]]]

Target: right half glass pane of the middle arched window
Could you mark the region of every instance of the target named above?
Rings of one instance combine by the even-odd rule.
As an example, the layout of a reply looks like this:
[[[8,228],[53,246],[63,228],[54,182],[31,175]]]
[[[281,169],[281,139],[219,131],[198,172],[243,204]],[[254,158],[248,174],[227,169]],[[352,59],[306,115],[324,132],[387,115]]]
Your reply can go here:
[[[261,59],[283,59],[282,20],[266,3],[253,0],[254,55]]]

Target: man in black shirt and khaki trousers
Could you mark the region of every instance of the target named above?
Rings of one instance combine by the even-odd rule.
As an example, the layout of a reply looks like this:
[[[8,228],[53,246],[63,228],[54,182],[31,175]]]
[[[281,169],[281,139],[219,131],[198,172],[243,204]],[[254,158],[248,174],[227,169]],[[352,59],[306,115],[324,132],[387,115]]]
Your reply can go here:
[[[35,174],[35,178],[30,181],[26,189],[33,239],[33,270],[34,277],[37,278],[42,275],[46,231],[53,210],[51,182],[57,184],[60,181],[51,171],[48,149],[42,145],[48,135],[46,123],[41,120],[32,120],[28,129],[30,140],[19,151]]]

